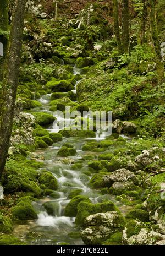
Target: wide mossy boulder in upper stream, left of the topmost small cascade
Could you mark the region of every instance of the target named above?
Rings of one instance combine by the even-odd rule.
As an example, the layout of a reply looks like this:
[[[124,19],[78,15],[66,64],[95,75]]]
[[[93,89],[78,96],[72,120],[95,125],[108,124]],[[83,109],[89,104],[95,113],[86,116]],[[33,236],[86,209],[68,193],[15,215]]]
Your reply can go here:
[[[46,84],[47,89],[51,89],[53,92],[67,92],[74,90],[74,86],[67,80],[53,79]]]

